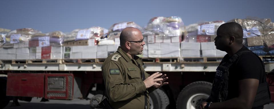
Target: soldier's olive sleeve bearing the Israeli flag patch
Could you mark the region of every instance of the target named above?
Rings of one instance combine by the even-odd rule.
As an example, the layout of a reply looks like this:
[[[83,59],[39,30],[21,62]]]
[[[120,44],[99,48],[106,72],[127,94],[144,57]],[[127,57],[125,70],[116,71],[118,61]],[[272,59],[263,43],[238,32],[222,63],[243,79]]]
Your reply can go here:
[[[119,74],[113,73],[114,70],[116,72],[119,70]],[[104,63],[102,66],[102,74],[107,95],[110,100],[114,102],[128,100],[146,91],[146,86],[143,81],[124,84],[126,73],[119,61]]]

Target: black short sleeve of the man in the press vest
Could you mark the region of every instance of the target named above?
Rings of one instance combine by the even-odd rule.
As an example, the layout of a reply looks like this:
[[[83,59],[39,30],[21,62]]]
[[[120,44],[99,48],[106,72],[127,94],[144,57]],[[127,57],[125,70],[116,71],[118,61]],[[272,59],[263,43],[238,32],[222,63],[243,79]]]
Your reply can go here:
[[[255,54],[245,53],[242,54],[237,62],[236,70],[238,70],[238,73],[236,74],[238,80],[249,78],[260,80],[263,67],[261,61]]]

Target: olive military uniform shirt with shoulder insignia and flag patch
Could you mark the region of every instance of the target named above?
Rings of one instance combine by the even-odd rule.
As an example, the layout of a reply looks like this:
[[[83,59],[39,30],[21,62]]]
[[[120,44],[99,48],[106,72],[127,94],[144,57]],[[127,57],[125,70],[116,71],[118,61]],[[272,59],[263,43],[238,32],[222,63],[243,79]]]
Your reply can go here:
[[[106,58],[102,65],[102,74],[106,94],[113,108],[144,109],[145,102],[149,108],[149,96],[144,92],[149,94],[155,89],[146,89],[142,81],[143,73],[145,78],[149,76],[142,66],[142,58],[134,56],[132,59],[120,47]],[[144,101],[145,97],[147,101]]]

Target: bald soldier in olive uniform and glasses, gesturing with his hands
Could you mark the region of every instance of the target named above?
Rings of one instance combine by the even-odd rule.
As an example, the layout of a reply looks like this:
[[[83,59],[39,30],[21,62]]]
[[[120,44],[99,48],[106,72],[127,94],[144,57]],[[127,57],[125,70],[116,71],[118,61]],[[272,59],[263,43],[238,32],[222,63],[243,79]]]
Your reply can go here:
[[[149,93],[168,84],[166,74],[147,74],[143,68],[144,37],[137,28],[127,27],[120,35],[120,47],[108,56],[102,66],[106,93],[117,109],[149,108]]]

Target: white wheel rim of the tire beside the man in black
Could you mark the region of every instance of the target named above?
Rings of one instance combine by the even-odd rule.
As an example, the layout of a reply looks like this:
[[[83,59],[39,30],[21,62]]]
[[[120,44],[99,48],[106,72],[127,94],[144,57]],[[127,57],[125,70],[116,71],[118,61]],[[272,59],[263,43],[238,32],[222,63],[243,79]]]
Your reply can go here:
[[[209,95],[205,93],[197,93],[192,95],[186,104],[187,109],[199,109],[200,104],[206,100],[209,97]]]

